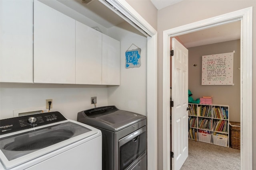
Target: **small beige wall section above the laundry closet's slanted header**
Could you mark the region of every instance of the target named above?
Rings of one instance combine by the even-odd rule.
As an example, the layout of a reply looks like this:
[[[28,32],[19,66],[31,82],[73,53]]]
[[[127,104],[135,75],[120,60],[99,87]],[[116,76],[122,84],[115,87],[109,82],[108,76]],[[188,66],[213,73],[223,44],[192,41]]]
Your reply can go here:
[[[157,9],[151,0],[126,0],[155,30],[157,30]]]

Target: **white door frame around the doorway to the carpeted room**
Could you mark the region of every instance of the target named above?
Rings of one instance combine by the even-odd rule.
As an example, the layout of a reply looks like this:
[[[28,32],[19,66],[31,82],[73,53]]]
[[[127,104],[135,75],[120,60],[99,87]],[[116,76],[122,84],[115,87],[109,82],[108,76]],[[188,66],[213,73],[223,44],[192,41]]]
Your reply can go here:
[[[170,169],[170,37],[241,21],[241,169],[252,170],[252,7],[163,31],[163,169]]]

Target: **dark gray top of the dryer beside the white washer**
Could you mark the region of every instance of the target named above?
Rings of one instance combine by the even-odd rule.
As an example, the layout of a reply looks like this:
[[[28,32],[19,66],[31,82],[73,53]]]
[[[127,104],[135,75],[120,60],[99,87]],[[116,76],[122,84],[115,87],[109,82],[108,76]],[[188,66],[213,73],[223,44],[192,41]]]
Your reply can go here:
[[[97,111],[92,111],[91,113],[93,113],[93,115],[86,114],[91,110]],[[130,125],[146,119],[146,116],[144,115],[130,111],[119,110],[115,106],[105,106],[89,109],[83,111],[83,114],[85,117],[83,119],[78,119],[78,121],[113,132],[120,131],[126,127],[129,127]]]

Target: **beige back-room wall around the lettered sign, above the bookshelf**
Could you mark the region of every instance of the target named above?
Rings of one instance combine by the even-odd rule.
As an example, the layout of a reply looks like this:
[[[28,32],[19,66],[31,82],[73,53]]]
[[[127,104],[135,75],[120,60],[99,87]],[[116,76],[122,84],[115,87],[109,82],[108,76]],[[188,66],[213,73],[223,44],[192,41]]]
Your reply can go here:
[[[202,86],[202,56],[234,53],[233,86]],[[197,66],[193,66],[196,64]],[[240,40],[188,48],[188,89],[194,100],[212,96],[213,104],[229,105],[229,121],[240,122]]]

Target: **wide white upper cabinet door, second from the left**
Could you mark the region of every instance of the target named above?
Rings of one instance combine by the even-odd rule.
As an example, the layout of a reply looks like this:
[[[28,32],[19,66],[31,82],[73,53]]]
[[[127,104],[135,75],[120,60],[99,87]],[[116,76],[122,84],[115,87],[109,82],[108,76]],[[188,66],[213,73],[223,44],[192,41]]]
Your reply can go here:
[[[34,82],[75,83],[75,20],[34,1]]]

